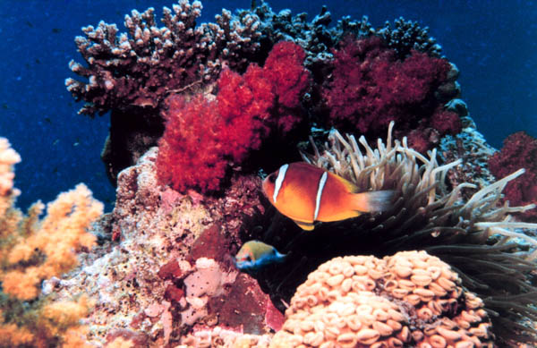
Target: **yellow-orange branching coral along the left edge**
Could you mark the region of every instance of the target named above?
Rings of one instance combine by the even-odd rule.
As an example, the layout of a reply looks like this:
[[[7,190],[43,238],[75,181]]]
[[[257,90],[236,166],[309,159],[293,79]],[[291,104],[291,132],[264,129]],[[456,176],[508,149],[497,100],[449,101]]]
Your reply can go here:
[[[5,139],[0,139],[0,169],[3,186],[0,214],[0,336],[2,347],[49,344],[84,346],[84,327],[79,319],[90,310],[90,301],[51,301],[38,297],[40,283],[77,265],[76,251],[87,250],[95,236],[87,233],[91,221],[102,214],[103,205],[91,198],[83,184],[64,192],[47,206],[34,204],[28,216],[13,208],[13,169],[20,157]]]

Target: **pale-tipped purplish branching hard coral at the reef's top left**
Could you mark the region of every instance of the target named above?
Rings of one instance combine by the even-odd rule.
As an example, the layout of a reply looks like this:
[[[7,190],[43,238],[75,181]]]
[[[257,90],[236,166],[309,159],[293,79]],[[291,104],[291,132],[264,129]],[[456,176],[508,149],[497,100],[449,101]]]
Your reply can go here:
[[[214,81],[222,66],[236,67],[259,48],[259,20],[244,15],[234,20],[224,11],[217,23],[196,27],[201,3],[181,0],[173,12],[163,9],[165,26],[158,28],[154,9],[136,10],[125,15],[129,34],[117,35],[115,24],[99,22],[82,30],[76,45],[87,67],[71,61],[72,72],[88,82],[65,80],[77,100],[89,104],[81,114],[104,114],[127,106],[157,108],[168,93],[188,88],[192,83]],[[230,62],[228,62],[228,60]]]

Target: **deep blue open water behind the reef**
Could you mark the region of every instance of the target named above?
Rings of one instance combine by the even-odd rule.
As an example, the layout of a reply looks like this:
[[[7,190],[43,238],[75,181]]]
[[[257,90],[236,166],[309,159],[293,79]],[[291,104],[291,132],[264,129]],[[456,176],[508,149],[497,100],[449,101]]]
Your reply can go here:
[[[249,0],[203,3],[201,21],[213,21],[223,4],[229,10],[250,7]],[[174,1],[34,0],[0,1],[0,136],[22,157],[16,186],[26,208],[37,199],[85,182],[95,197],[114,202],[99,153],[107,136],[107,115],[91,120],[77,115],[64,87],[72,76],[67,64],[82,62],[73,38],[81,27],[115,22],[124,31],[124,14]],[[275,12],[319,13],[322,2],[269,3]],[[334,21],[367,14],[378,27],[399,16],[430,27],[443,53],[461,71],[459,83],[473,120],[496,148],[508,134],[525,130],[537,137],[537,4],[532,1],[330,1]]]

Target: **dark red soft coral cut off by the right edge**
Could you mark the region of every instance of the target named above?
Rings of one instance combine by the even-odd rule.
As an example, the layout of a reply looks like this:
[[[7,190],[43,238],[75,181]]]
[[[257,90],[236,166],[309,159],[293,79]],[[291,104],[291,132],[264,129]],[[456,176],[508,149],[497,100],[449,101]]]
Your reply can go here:
[[[501,179],[520,168],[525,173],[507,184],[505,199],[511,206],[537,204],[537,139],[525,132],[516,132],[504,140],[503,148],[489,159],[490,172]],[[537,221],[537,209],[521,214],[528,221]]]

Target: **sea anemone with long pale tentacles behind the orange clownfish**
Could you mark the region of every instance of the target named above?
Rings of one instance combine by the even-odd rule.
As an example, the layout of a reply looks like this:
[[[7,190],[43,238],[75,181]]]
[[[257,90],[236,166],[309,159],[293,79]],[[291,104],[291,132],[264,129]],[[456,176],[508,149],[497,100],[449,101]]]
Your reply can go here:
[[[393,140],[393,126],[390,123],[387,143],[379,140],[377,149],[371,149],[363,136],[356,141],[337,131],[330,132],[322,153],[311,141],[313,154],[303,154],[306,162],[345,177],[362,191],[395,190],[393,208],[322,224],[312,233],[300,233],[275,219],[264,236],[274,240],[269,241],[273,244],[282,244],[285,235],[294,237],[280,250],[291,251],[287,262],[295,262],[295,268],[291,273],[265,273],[261,283],[273,297],[288,301],[288,294],[303,281],[296,275],[307,275],[333,257],[384,257],[403,250],[426,250],[453,267],[463,286],[483,299],[499,342],[536,343],[537,332],[528,320],[537,320],[537,310],[530,307],[537,301],[537,288],[532,284],[537,241],[524,230],[537,229],[537,224],[517,222],[509,216],[534,205],[499,204],[507,182],[524,170],[480,190],[470,183],[450,187],[447,172],[461,161],[440,165],[435,149],[425,157],[410,149],[405,138]],[[464,201],[463,190],[475,192]],[[274,231],[281,234],[275,237]]]

